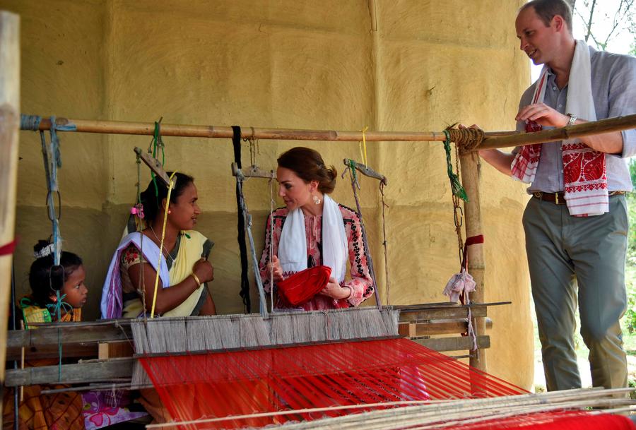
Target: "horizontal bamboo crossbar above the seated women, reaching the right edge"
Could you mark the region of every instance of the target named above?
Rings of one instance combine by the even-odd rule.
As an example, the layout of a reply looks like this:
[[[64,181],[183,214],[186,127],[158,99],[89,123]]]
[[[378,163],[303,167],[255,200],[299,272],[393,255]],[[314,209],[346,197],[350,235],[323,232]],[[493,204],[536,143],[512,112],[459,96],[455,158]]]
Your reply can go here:
[[[25,121],[30,119],[30,121]],[[37,127],[31,127],[33,117],[23,115],[23,130],[49,130],[51,119],[42,118]],[[98,121],[87,119],[57,118],[59,131],[77,131],[81,133],[111,133],[153,136],[155,124],[150,122],[128,121]],[[608,133],[636,128],[636,114],[625,117],[601,119],[589,121],[575,126],[566,126],[561,129],[538,131],[536,133],[522,133],[519,131],[490,131],[483,133],[481,142],[473,142],[464,145],[466,150],[508,148],[517,145],[531,145],[533,143],[560,141],[564,138],[580,138],[594,134]],[[460,132],[454,130],[454,132]],[[193,126],[182,124],[161,124],[162,136],[178,136],[191,138],[232,138],[232,127],[226,126]],[[276,139],[288,141],[338,141],[358,142],[363,140],[361,131],[336,131],[336,130],[305,130],[305,129],[261,129],[255,127],[242,127],[242,138]],[[446,139],[443,132],[438,131],[367,131],[365,139],[369,142],[441,142]]]

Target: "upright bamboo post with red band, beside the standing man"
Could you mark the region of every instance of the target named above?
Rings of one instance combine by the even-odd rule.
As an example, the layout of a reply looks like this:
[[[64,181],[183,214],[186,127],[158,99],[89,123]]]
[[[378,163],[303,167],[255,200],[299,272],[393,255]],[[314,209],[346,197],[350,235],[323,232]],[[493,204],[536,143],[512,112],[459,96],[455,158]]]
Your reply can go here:
[[[461,165],[461,184],[469,198],[464,203],[464,226],[466,238],[482,234],[481,228],[481,203],[479,196],[479,175],[477,171],[478,155],[476,151],[459,155]],[[477,284],[475,292],[471,293],[471,301],[484,303],[483,274],[485,264],[483,260],[483,244],[474,244],[468,247],[468,270]],[[476,318],[473,328],[476,335],[485,333],[485,318]],[[478,354],[471,357],[470,364],[482,371],[488,371],[485,350],[478,350]]]

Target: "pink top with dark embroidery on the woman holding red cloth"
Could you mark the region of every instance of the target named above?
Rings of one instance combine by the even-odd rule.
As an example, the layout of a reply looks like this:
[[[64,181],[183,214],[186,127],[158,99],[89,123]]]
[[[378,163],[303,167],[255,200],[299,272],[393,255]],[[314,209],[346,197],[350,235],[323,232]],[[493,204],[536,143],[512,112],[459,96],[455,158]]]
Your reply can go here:
[[[351,270],[349,270],[351,279],[347,280],[345,278],[341,286],[351,288],[352,294],[347,301],[353,307],[358,306],[373,294],[374,285],[367,265],[367,256],[365,255],[362,232],[360,231],[360,217],[355,211],[346,206],[338,204],[338,207],[342,213],[349,248],[349,263],[351,263]],[[273,255],[278,255],[278,241],[281,239],[281,232],[283,232],[283,225],[288,213],[289,210],[287,208],[278,208],[270,215],[273,215],[273,235],[270,232],[270,217],[267,217],[265,247],[259,263],[259,270],[266,292],[269,292],[271,288],[270,272],[267,270],[269,245],[273,241]],[[305,215],[305,237],[307,237],[307,267],[322,264],[322,215]],[[274,292],[276,292],[276,286],[274,286]],[[283,307],[279,299],[276,299],[276,307]],[[299,309],[314,311],[334,309],[335,307],[334,299],[318,294],[310,301],[302,304]]]

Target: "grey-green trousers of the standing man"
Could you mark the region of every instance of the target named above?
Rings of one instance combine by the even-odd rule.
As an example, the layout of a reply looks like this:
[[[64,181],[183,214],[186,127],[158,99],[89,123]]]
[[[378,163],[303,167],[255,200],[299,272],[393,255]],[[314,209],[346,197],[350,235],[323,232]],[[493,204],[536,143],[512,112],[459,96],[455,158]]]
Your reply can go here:
[[[618,322],[627,306],[625,196],[610,196],[609,212],[594,217],[572,217],[566,205],[533,197],[524,229],[548,390],[581,387],[574,345],[577,301],[592,384],[627,386]]]

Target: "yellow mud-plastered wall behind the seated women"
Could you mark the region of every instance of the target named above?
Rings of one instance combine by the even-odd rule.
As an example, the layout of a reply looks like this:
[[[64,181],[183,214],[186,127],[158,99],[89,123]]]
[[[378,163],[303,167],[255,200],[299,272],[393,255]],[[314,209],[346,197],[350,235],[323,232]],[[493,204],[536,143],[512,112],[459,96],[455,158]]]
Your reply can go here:
[[[512,129],[529,83],[513,21],[522,0],[117,1],[0,0],[22,17],[22,111],[81,119],[306,129],[434,130],[456,121]],[[132,148],[147,136],[62,133],[59,174],[65,249],[86,261],[98,316],[110,255],[135,197]],[[213,294],[223,313],[240,312],[230,141],[165,138],[167,169],[194,175],[199,229],[216,242]],[[257,161],[273,167],[294,145],[318,149],[342,170],[357,143],[267,141]],[[247,162],[247,144],[244,145]],[[370,165],[389,178],[387,232],[391,303],[445,301],[458,269],[452,203],[440,143],[369,143]],[[36,133],[20,133],[16,253],[26,292],[30,246],[49,234]],[[148,181],[144,167],[142,183]],[[529,388],[533,369],[522,186],[483,167],[487,301],[495,321],[489,371]],[[248,181],[254,237],[262,246],[266,181]],[[354,206],[341,181],[334,198]],[[384,285],[377,184],[361,198],[378,280]],[[280,202],[278,202],[280,204]],[[384,291],[382,291],[384,298]],[[256,294],[252,294],[254,302]],[[510,340],[514,339],[514,345]]]

